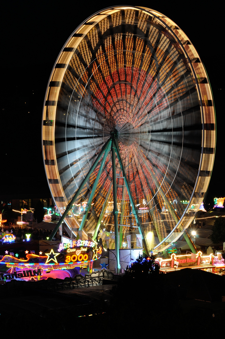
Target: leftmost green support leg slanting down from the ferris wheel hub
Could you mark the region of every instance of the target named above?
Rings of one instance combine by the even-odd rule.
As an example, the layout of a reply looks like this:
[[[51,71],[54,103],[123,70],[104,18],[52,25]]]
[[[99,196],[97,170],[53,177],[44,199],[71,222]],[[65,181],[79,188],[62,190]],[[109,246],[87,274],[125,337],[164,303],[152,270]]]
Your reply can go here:
[[[84,180],[82,181],[82,183],[80,184],[77,192],[75,193],[74,197],[72,198],[72,200],[70,201],[70,203],[66,206],[65,212],[63,213],[63,215],[61,216],[61,218],[59,219],[56,227],[54,228],[52,234],[49,237],[49,240],[52,240],[52,238],[54,237],[54,235],[56,234],[56,232],[58,231],[60,225],[62,224],[63,220],[65,219],[67,213],[69,212],[69,210],[71,210],[71,208],[73,207],[73,203],[76,201],[76,199],[78,198],[80,191],[82,190],[82,188],[84,187],[84,185],[86,184],[87,180],[89,179],[91,173],[94,171],[95,167],[97,166],[99,160],[101,159],[103,153],[105,152],[105,150],[107,149],[109,143],[111,141],[111,138],[109,138],[109,140],[103,145],[99,155],[97,156],[97,158],[95,159],[93,165],[91,166],[91,168],[89,169],[86,177],[84,178]]]

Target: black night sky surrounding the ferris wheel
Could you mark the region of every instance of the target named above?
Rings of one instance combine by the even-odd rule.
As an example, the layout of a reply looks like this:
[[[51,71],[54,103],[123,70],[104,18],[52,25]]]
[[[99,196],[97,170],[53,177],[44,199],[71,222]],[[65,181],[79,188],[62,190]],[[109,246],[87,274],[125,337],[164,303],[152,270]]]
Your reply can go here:
[[[42,158],[42,109],[54,63],[68,37],[95,12],[114,2],[18,1],[2,5],[0,197],[50,196]],[[195,7],[193,7],[195,4]],[[155,9],[180,26],[208,74],[217,119],[217,148],[206,200],[225,196],[223,44],[219,2],[127,1]],[[5,199],[5,198],[4,198]]]

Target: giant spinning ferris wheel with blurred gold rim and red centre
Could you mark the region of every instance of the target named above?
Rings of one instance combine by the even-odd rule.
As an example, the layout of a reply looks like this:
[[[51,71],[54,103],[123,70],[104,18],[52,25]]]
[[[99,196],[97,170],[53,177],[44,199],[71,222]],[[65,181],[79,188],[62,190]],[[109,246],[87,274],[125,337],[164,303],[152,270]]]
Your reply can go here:
[[[68,233],[100,231],[114,248],[133,230],[147,251],[165,250],[197,213],[214,161],[212,94],[195,47],[152,9],[95,13],[57,58],[42,139]]]

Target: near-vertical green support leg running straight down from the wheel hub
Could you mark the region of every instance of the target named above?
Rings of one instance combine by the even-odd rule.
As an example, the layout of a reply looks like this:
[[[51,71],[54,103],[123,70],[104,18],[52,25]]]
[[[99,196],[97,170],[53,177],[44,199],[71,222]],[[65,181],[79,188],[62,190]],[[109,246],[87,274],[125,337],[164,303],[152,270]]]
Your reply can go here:
[[[115,271],[120,272],[120,251],[119,251],[119,234],[118,234],[118,210],[117,210],[117,179],[116,179],[116,144],[112,139],[112,188],[113,188],[113,216],[114,216],[114,230],[115,230],[115,253],[117,262],[115,262]]]

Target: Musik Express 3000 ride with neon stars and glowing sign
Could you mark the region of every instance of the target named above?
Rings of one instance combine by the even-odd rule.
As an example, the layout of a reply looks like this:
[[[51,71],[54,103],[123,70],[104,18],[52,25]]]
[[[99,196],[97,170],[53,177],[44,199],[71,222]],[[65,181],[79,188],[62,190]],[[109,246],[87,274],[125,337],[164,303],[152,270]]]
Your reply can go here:
[[[100,258],[102,247],[92,241],[72,240],[64,242],[30,240],[0,248],[0,280],[73,278],[76,268],[85,267],[91,273],[93,261]]]

